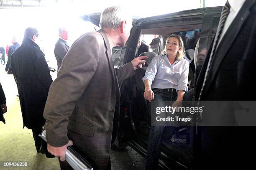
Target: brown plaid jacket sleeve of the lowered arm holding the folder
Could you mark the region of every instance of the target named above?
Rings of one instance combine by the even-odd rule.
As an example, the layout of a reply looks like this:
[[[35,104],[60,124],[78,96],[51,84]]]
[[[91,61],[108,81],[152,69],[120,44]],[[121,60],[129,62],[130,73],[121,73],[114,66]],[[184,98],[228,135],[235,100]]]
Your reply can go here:
[[[97,39],[87,36],[76,41],[64,58],[44,109],[46,139],[51,146],[61,147],[69,142],[69,116],[95,74],[99,51]]]

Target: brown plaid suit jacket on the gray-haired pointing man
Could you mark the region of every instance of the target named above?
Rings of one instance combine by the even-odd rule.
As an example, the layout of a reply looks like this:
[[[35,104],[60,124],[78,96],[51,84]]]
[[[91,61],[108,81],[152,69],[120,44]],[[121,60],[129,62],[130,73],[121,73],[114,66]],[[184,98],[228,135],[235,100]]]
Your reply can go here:
[[[95,170],[105,169],[118,127],[119,84],[133,75],[132,63],[114,69],[104,30],[78,38],[49,90],[44,109],[48,143],[60,147],[72,140]]]

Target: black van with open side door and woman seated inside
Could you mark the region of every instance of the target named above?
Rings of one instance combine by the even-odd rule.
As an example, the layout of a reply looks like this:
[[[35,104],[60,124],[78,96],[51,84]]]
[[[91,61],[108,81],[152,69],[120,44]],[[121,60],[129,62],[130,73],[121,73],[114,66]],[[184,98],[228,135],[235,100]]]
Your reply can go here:
[[[166,38],[169,35],[179,34],[184,42],[185,58],[190,63],[189,88],[194,88],[204,60],[203,55],[206,54],[217,30],[221,10],[222,7],[200,8],[136,20],[125,47],[113,48],[115,67],[122,66],[137,56],[140,39],[150,43],[148,38],[159,35],[161,39],[158,48],[150,50],[155,53],[154,56],[159,55],[164,49]],[[85,15],[84,20],[90,18],[92,23],[99,25],[99,16],[100,14],[98,16]],[[199,38],[200,41],[198,41]],[[199,54],[200,58],[197,58]],[[146,61],[146,66],[149,62],[150,59]],[[147,109],[147,101],[143,97],[145,89],[142,77],[146,66],[143,69],[137,69],[135,76],[126,79],[121,85],[120,128],[118,139],[113,146],[113,149],[121,149],[130,145],[144,157],[146,157],[151,126],[151,115]],[[195,140],[196,129],[192,126],[177,127],[172,136],[169,136],[167,131],[164,135],[159,166],[166,170],[193,169]]]

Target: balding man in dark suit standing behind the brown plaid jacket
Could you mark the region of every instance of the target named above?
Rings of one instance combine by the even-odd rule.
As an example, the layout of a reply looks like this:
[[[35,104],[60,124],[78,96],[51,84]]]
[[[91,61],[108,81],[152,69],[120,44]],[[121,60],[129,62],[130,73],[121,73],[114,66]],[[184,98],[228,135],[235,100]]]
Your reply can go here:
[[[66,56],[67,51],[69,51],[69,45],[67,43],[68,31],[64,27],[59,28],[59,40],[55,44],[54,55],[57,60],[58,70],[61,66],[64,56]]]

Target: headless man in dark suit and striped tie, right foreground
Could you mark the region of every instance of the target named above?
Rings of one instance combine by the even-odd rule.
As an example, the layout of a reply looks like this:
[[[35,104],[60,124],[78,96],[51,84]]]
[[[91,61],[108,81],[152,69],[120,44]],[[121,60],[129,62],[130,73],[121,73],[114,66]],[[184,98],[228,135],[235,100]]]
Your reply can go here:
[[[208,50],[195,89],[196,100],[220,101],[216,108],[204,108],[201,122],[218,120],[215,125],[224,126],[197,127],[198,169],[237,169],[254,166],[255,162],[250,153],[256,150],[255,140],[251,138],[256,128],[235,126],[240,120],[236,120],[230,101],[247,101],[248,104],[255,101],[252,79],[256,66],[256,0],[228,2],[223,8],[229,12],[228,16],[224,15],[223,31],[217,38],[218,43],[212,43]],[[217,44],[215,52],[213,44]],[[215,112],[209,115],[206,110]],[[232,112],[227,112],[230,110]]]

